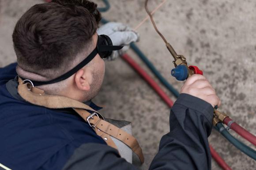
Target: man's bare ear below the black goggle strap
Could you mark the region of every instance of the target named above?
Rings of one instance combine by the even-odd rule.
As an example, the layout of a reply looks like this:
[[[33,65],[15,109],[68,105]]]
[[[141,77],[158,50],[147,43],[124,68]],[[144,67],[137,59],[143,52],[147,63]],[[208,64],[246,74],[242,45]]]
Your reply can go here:
[[[75,84],[77,88],[79,88],[79,90],[90,90],[90,83],[85,70],[80,69],[78,72],[75,73]]]

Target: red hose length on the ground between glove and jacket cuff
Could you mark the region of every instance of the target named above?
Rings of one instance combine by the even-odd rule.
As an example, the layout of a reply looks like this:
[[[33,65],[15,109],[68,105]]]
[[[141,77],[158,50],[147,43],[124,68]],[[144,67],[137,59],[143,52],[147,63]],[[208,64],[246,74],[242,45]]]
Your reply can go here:
[[[173,106],[173,101],[169,98],[169,96],[158,86],[158,84],[147,74],[145,70],[143,70],[137,63],[134,61],[128,54],[124,54],[122,58],[128,62],[129,65],[135,69],[140,76],[143,77],[149,83],[149,85],[158,93],[158,95],[166,102],[169,107]]]

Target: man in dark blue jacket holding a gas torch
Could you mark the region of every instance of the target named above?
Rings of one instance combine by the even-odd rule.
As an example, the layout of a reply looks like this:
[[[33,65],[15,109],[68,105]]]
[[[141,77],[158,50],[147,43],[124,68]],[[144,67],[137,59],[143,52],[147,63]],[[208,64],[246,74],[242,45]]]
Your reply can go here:
[[[46,94],[100,109],[90,101],[98,94],[105,72],[102,54],[91,55],[100,37],[96,30],[101,15],[96,7],[87,0],[53,0],[31,7],[17,22],[13,42],[18,64],[0,69],[0,167],[136,169],[72,109],[32,105],[17,90],[18,75]],[[124,25],[105,27],[99,31],[109,35],[113,45],[128,45],[138,38]],[[90,62],[67,74],[89,56]],[[211,169],[207,137],[215,105],[220,101],[206,78],[191,76],[171,109],[170,132],[162,137],[150,169]]]

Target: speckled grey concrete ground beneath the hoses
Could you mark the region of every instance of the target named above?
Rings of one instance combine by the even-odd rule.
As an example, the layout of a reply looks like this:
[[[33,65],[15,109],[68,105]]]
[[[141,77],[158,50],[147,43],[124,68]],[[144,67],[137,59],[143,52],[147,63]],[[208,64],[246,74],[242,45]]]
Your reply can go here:
[[[0,67],[15,61],[11,42],[15,22],[30,6],[41,2],[0,0]],[[96,2],[103,6],[101,0]],[[135,27],[146,16],[144,0],[109,2],[111,9],[102,14],[108,20]],[[160,2],[150,0],[149,8],[153,9]],[[154,14],[154,19],[176,51],[186,56],[189,64],[203,69],[222,99],[220,110],[256,134],[256,1],[167,0]],[[151,23],[143,24],[138,32],[140,41],[137,45],[169,83],[180,90],[183,82],[170,76],[172,57]],[[132,51],[128,54],[153,76],[136,54]],[[147,154],[148,165],[158,150],[160,138],[169,131],[169,108],[164,102],[120,58],[106,63],[105,81],[94,101],[105,106],[102,113],[106,117],[132,122],[133,134]],[[232,130],[230,132],[250,145]],[[209,141],[234,170],[256,169],[256,161],[215,131]],[[212,169],[220,169],[214,160]]]

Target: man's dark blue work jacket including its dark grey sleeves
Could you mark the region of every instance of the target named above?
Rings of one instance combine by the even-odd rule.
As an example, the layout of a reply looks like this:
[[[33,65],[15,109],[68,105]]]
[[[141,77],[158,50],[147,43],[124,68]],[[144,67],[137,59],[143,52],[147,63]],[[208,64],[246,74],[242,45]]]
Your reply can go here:
[[[136,169],[71,110],[23,101],[17,93],[15,66],[0,69],[1,164],[13,170]],[[170,132],[162,137],[150,169],[211,169],[207,137],[212,118],[209,103],[181,94],[171,109]]]

